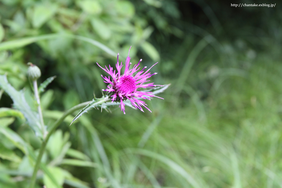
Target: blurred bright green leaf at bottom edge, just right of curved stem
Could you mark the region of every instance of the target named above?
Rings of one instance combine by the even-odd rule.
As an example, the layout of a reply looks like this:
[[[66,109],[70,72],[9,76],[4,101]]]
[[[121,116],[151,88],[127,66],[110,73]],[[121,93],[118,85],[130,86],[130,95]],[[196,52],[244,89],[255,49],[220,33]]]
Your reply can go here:
[[[58,182],[59,185],[63,185],[65,180],[64,170],[59,167],[47,167],[48,171],[53,175]],[[57,186],[53,183],[53,181],[48,177],[48,175],[44,174],[43,182],[47,188],[57,188]]]

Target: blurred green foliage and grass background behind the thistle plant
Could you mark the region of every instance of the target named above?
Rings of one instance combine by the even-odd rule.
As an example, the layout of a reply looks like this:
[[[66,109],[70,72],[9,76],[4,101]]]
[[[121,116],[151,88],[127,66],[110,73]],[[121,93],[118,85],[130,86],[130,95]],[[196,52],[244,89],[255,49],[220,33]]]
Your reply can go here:
[[[1,0],[0,74],[32,98],[27,63],[39,83],[45,124],[101,97],[101,66],[125,62],[171,86],[145,113],[118,106],[66,118],[42,162],[63,187],[282,187],[282,9],[226,1]],[[245,0],[246,4],[270,4]],[[26,40],[23,38],[28,37]],[[98,43],[97,43],[98,42]],[[103,46],[105,45],[105,46]],[[0,92],[0,107],[13,103]],[[19,117],[0,117],[37,151]],[[0,187],[28,187],[34,162],[0,133]],[[56,187],[39,172],[37,187]]]

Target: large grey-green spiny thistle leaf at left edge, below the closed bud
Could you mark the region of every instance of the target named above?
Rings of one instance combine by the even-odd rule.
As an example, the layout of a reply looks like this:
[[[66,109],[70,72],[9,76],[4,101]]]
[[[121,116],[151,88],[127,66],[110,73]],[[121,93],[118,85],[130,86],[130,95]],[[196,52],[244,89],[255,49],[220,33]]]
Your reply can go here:
[[[14,108],[24,114],[28,125],[33,129],[36,136],[43,138],[47,133],[46,127],[41,125],[38,113],[31,110],[24,97],[24,92],[22,90],[17,91],[11,86],[6,75],[0,75],[0,87],[11,97],[14,102]]]

